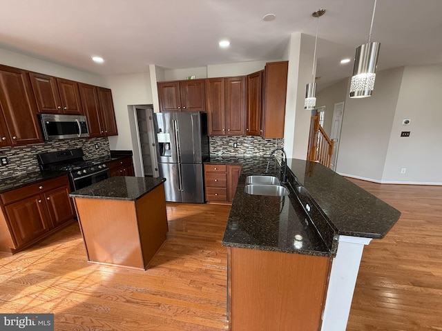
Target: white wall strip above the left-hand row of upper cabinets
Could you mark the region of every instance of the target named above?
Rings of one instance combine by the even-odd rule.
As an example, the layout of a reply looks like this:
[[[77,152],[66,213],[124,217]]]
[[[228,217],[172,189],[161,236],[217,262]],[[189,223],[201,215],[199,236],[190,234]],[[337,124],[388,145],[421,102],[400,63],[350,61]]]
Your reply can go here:
[[[97,74],[91,74],[89,72],[68,68],[66,66],[60,66],[59,64],[37,59],[35,57],[28,57],[27,55],[5,50],[3,48],[0,48],[0,63],[4,64],[5,66],[21,68],[29,71],[39,72],[41,74],[49,74],[50,76],[71,79],[73,81],[81,81],[81,83],[88,83],[91,85],[108,88],[104,78]]]

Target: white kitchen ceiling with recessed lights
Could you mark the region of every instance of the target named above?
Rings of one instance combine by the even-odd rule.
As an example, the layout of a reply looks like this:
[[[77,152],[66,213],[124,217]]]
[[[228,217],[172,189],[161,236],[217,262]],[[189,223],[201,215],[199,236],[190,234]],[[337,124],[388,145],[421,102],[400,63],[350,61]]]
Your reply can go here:
[[[315,35],[318,89],[349,77],[374,0],[1,0],[0,47],[96,74],[280,59],[292,32]],[[327,12],[319,21],[311,13]],[[265,14],[276,14],[263,21]],[[378,70],[442,63],[441,0],[378,0]],[[221,39],[231,46],[222,49]],[[90,57],[105,59],[97,64]],[[351,58],[346,65],[340,59]],[[1,61],[1,59],[0,59]]]

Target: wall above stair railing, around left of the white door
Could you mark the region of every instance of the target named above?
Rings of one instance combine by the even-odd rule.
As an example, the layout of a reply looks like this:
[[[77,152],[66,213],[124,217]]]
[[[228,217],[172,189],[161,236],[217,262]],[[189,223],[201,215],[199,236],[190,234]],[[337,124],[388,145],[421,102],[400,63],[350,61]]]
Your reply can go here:
[[[334,104],[347,99],[349,78],[341,79],[332,86],[316,92],[316,106],[325,106],[324,130],[330,137],[333,123]]]

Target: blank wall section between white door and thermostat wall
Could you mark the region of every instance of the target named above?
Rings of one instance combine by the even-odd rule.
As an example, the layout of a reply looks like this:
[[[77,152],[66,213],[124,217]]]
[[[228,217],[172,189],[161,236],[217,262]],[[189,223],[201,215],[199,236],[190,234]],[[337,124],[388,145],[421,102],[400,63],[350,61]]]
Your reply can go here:
[[[347,94],[336,172],[381,181],[402,75],[403,67],[376,72],[372,97]]]

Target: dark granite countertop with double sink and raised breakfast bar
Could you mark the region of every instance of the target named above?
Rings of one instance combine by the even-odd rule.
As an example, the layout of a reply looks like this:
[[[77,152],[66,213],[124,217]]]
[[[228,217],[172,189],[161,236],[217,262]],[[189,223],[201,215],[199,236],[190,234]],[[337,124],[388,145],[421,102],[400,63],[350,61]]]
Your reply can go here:
[[[381,239],[400,216],[392,206],[320,163],[298,159],[287,160],[288,197],[244,193],[245,177],[263,174],[267,160],[227,156],[206,162],[242,165],[223,245],[334,256],[339,234]],[[271,171],[280,177],[274,159]],[[314,207],[310,212],[302,207],[306,201]],[[296,234],[302,236],[302,248],[296,248],[300,246],[294,241]]]

